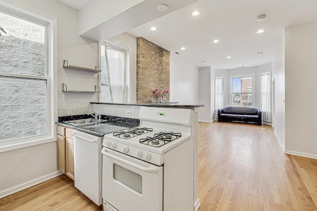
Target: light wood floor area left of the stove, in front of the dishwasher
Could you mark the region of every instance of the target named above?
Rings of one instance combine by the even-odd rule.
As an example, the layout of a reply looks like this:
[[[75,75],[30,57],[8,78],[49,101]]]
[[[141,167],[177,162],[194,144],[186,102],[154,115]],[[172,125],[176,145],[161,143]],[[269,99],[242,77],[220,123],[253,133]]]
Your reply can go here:
[[[65,174],[0,199],[0,211],[102,211]]]

